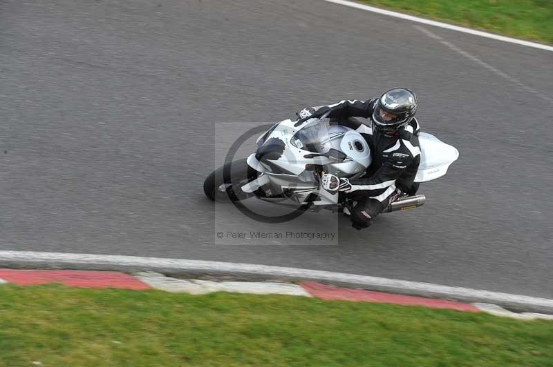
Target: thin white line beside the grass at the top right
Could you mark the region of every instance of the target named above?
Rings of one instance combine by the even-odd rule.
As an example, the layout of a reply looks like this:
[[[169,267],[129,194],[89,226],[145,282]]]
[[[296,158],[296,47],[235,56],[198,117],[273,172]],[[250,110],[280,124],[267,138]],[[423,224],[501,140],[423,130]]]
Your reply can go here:
[[[343,6],[349,6],[350,8],[366,10],[368,12],[375,12],[375,13],[378,13],[378,14],[388,15],[389,17],[405,19],[405,20],[408,20],[408,21],[415,21],[417,23],[427,24],[428,26],[440,27],[440,28],[445,28],[445,29],[449,29],[449,30],[455,30],[457,32],[474,34],[475,36],[495,39],[496,41],[515,43],[515,44],[521,45],[521,46],[539,48],[540,50],[546,50],[546,51],[553,51],[553,46],[547,46],[547,45],[543,45],[541,43],[536,43],[536,42],[523,41],[522,39],[516,39],[516,38],[512,38],[512,37],[500,36],[498,34],[482,32],[480,30],[474,30],[474,29],[471,29],[471,28],[453,26],[452,24],[442,23],[441,21],[431,21],[429,19],[413,17],[413,15],[407,15],[407,14],[403,14],[403,13],[400,13],[400,12],[393,12],[391,10],[384,10],[384,9],[380,9],[380,8],[375,8],[373,6],[368,6],[368,5],[364,5],[364,4],[361,4],[361,3],[354,3],[353,1],[346,1],[346,0],[324,0],[324,1],[327,1],[328,3],[335,3],[335,4],[339,4],[339,5],[343,5]]]

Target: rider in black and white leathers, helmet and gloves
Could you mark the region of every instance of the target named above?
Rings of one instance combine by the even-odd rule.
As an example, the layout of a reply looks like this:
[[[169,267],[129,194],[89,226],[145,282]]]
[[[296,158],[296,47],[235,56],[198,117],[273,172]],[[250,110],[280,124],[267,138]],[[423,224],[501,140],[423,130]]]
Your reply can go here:
[[[366,101],[340,101],[329,106],[306,108],[298,112],[303,119],[337,117],[340,124],[361,133],[371,147],[373,161],[364,178],[348,180],[325,174],[321,184],[326,190],[344,192],[357,201],[350,212],[353,228],[358,230],[373,224],[373,219],[402,193],[415,194],[414,184],[420,163],[418,135],[420,127],[414,118],[417,97],[406,88],[393,88],[382,97]],[[372,128],[348,120],[348,117],[371,119]]]

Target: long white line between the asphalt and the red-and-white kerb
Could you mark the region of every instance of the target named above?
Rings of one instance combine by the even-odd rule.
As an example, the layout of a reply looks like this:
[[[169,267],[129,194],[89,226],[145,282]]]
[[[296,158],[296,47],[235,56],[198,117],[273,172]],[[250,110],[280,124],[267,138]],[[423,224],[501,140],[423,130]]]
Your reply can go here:
[[[86,268],[103,270],[150,270],[157,272],[181,271],[209,274],[241,274],[278,279],[310,279],[328,281],[336,285],[360,286],[383,292],[399,292],[421,297],[453,298],[468,302],[498,304],[507,308],[532,310],[539,313],[553,313],[553,299],[512,295],[509,293],[489,292],[471,288],[441,286],[439,284],[420,283],[370,277],[368,275],[346,274],[325,270],[284,268],[256,264],[237,264],[221,261],[203,261],[186,259],[165,259],[160,257],[138,257],[121,255],[90,255],[60,252],[0,251],[0,266],[50,266],[66,268]]]

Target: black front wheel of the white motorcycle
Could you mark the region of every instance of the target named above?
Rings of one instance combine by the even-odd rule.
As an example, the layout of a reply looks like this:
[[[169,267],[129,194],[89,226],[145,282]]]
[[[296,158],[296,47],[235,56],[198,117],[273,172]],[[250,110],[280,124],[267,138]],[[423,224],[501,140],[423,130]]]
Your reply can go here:
[[[207,176],[203,183],[205,196],[214,201],[241,201],[253,197],[253,192],[243,192],[241,186],[257,178],[257,171],[248,166],[246,159],[225,164]]]

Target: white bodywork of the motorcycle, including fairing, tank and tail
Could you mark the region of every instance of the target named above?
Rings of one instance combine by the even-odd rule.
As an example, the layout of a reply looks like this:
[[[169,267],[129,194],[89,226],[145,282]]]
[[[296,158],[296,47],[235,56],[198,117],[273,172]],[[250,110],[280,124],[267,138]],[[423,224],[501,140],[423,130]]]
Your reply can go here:
[[[421,159],[415,182],[442,177],[459,157],[456,148],[431,134],[421,132],[419,141]],[[303,123],[290,119],[281,121],[261,135],[256,143],[258,152],[247,158],[247,164],[259,175],[241,189],[243,192],[261,190],[265,196],[260,199],[286,197],[319,208],[335,206],[339,195],[319,187],[321,173],[357,179],[365,174],[372,161],[368,143],[359,132],[346,126],[328,126],[328,120],[323,119],[309,119]],[[272,151],[271,147],[277,149]],[[265,148],[274,154],[261,154]],[[329,152],[336,150],[345,157],[329,156]]]

